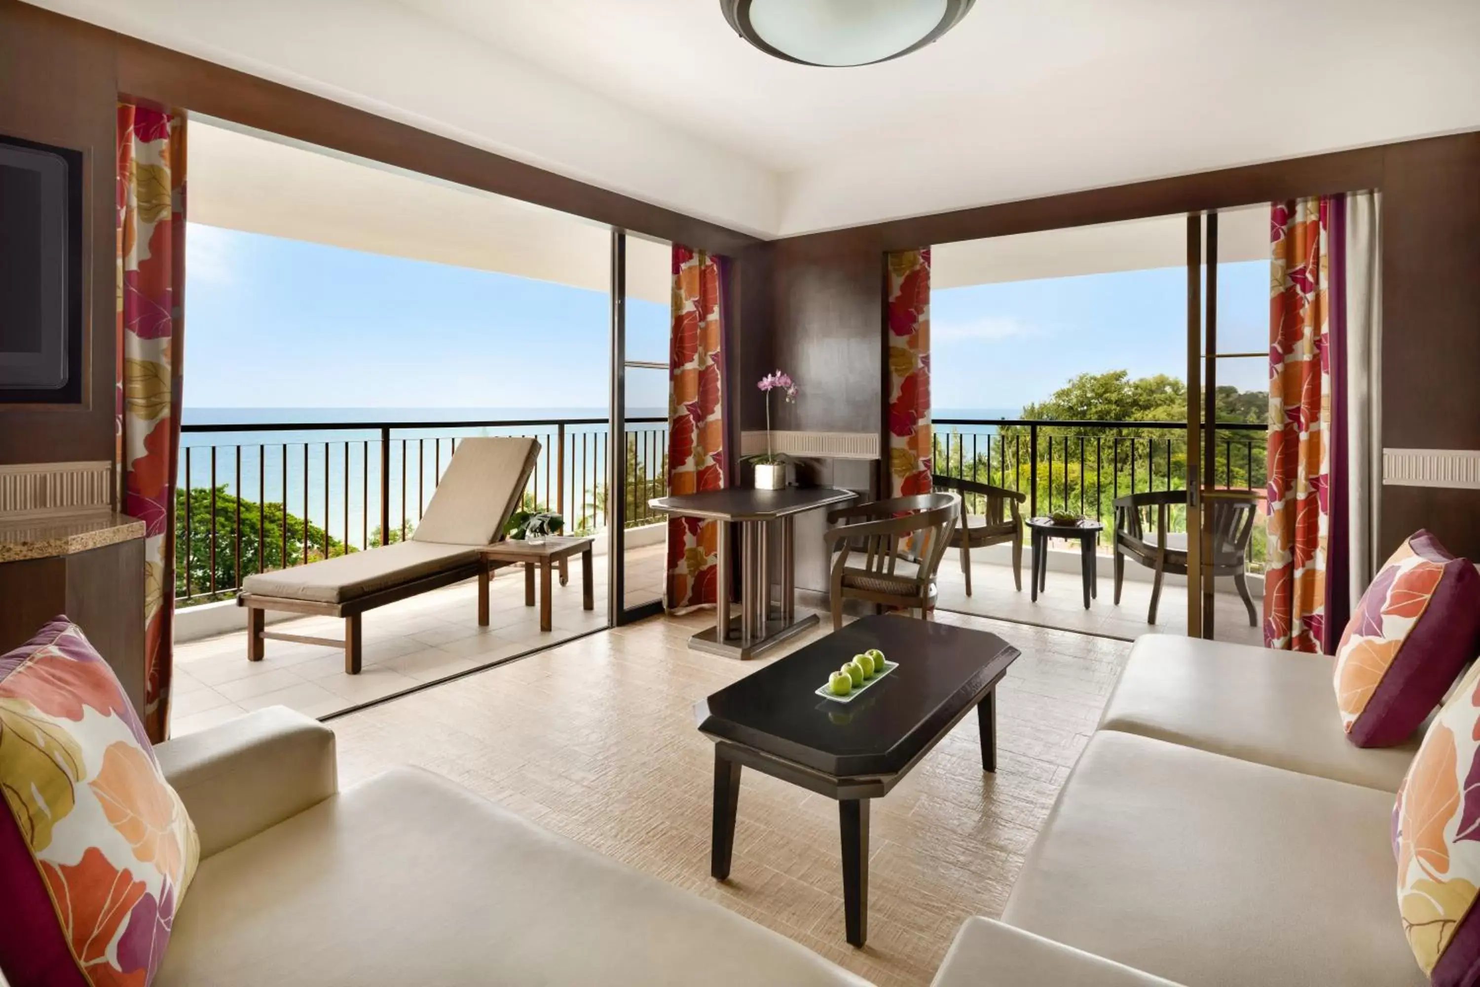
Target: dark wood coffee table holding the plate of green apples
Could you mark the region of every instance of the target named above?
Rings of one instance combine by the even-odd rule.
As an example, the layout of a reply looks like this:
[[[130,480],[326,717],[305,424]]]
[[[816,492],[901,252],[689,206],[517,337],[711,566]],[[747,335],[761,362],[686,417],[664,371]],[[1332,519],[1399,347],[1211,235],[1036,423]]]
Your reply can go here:
[[[900,667],[851,703],[815,694],[852,656],[879,648]],[[741,765],[838,799],[848,941],[863,946],[869,916],[869,799],[889,792],[977,710],[981,768],[996,771],[993,690],[1018,657],[1002,638],[906,617],[864,617],[694,704],[715,741],[715,818],[709,872],[730,876]]]

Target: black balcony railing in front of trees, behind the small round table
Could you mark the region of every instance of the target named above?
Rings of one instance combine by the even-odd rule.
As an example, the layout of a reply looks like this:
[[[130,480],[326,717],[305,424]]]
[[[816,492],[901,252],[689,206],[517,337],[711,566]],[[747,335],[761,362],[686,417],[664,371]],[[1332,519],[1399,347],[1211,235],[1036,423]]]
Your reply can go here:
[[[1212,485],[1262,494],[1265,426],[1220,422],[1215,439]],[[1185,488],[1187,425],[935,419],[934,457],[937,474],[1026,493],[1027,516],[1067,511],[1100,519],[1100,545],[1110,546],[1116,497]],[[1185,511],[1172,511],[1168,525],[1185,533]],[[1264,568],[1264,525],[1255,525],[1249,567]]]

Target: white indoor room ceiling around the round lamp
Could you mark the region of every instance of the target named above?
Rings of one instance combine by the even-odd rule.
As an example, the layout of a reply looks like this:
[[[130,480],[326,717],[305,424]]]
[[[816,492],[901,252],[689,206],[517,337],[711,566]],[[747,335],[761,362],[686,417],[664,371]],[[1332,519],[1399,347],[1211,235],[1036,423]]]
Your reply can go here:
[[[712,0],[40,0],[767,237],[1480,127],[1476,0],[978,0],[821,70]]]

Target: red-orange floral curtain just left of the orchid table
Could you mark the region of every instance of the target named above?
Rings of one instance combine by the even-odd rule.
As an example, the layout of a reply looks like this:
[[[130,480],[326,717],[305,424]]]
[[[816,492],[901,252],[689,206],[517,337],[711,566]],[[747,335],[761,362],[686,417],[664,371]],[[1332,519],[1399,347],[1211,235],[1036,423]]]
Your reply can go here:
[[[673,336],[669,348],[667,490],[724,490],[725,401],[719,257],[673,244]],[[667,521],[667,608],[716,602],[719,524]]]

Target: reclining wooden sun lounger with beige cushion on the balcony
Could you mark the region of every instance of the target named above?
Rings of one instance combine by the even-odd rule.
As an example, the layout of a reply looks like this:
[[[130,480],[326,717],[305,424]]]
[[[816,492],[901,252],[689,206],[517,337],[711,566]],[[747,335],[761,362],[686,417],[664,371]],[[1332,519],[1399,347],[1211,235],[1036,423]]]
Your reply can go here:
[[[343,647],[345,672],[361,667],[361,616],[367,610],[478,577],[478,623],[488,621],[490,564],[478,553],[502,537],[540,454],[533,438],[465,438],[410,540],[249,576],[237,605],[247,608],[247,660],[260,661],[265,639]],[[265,629],[266,611],[345,619],[345,639]]]

